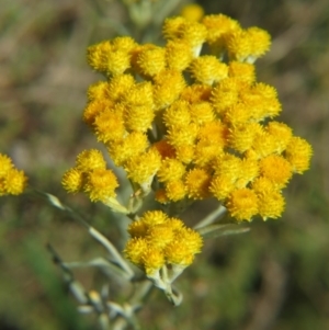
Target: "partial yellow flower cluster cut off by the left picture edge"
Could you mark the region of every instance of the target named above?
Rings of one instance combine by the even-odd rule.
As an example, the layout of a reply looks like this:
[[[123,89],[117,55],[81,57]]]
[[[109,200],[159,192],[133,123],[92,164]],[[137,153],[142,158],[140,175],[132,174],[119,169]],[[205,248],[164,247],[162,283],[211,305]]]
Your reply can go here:
[[[27,184],[27,178],[23,171],[14,168],[12,160],[0,153],[0,196],[20,195]]]

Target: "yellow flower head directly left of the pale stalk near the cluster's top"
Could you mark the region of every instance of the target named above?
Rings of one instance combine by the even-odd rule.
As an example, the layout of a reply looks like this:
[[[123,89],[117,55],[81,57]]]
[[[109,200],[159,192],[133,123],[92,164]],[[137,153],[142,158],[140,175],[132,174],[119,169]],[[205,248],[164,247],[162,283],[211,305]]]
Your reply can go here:
[[[166,62],[169,69],[185,70],[192,61],[192,50],[188,42],[169,41],[164,47]]]

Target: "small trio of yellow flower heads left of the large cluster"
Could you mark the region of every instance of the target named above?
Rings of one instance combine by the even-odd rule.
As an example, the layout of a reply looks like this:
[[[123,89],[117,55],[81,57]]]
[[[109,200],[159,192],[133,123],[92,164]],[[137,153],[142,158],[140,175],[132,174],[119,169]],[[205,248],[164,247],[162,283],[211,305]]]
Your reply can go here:
[[[76,166],[65,172],[61,184],[69,193],[86,192],[92,202],[114,197],[118,186],[114,173],[106,169],[101,151],[95,149],[78,155]]]

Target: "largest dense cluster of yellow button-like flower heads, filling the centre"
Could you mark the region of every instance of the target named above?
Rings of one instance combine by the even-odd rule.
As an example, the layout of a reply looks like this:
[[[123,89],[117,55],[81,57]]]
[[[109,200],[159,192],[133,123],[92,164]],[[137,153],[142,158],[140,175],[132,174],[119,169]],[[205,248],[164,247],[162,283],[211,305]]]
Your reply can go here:
[[[162,32],[163,47],[116,37],[88,48],[106,80],[89,88],[84,122],[135,186],[157,183],[160,203],[214,196],[238,221],[280,217],[282,189],[308,169],[313,151],[273,121],[276,90],[257,81],[253,62],[269,34],[223,14],[167,19]],[[75,168],[64,185],[76,192],[83,181],[102,200],[87,177]]]

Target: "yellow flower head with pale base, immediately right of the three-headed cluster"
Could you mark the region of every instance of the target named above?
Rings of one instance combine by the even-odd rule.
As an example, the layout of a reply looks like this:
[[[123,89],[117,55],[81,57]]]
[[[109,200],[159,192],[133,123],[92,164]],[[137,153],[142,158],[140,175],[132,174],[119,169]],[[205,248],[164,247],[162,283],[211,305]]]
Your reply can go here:
[[[132,181],[143,184],[156,174],[161,164],[161,157],[159,152],[154,149],[145,153],[132,157],[124,166],[127,177]]]

